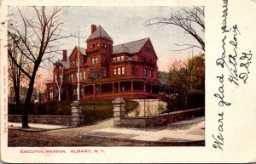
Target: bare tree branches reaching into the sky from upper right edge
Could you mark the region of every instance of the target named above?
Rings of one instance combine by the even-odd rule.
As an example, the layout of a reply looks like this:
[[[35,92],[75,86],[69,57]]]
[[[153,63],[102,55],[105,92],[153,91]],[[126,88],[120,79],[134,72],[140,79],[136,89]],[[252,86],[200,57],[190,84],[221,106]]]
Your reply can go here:
[[[180,50],[189,48],[201,48],[203,51],[205,51],[205,41],[204,37],[202,37],[205,32],[204,16],[204,7],[180,8],[179,11],[172,13],[169,17],[156,17],[149,19],[146,25],[158,25],[159,27],[165,27],[166,25],[176,25],[179,28],[182,28],[185,33],[195,38],[195,41],[199,44],[176,44],[177,46],[186,46],[186,48]]]

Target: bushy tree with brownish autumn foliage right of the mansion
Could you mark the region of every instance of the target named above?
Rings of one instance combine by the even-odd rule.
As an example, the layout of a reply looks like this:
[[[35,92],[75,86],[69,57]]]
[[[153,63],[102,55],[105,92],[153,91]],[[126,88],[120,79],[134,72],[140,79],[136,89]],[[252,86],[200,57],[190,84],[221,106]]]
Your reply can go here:
[[[185,106],[190,93],[204,93],[204,71],[204,54],[172,63],[169,71],[169,85],[175,88],[176,93],[181,94]]]

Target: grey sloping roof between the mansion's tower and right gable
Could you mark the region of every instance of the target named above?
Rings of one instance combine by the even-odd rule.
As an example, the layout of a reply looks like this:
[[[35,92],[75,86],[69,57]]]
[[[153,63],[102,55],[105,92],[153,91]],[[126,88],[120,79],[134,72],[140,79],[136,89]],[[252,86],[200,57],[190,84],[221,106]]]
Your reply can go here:
[[[113,54],[120,54],[120,53],[128,53],[128,54],[135,54],[138,53],[146,42],[148,42],[149,38],[144,38],[141,40],[133,41],[133,42],[125,42],[123,44],[119,44],[113,46]]]

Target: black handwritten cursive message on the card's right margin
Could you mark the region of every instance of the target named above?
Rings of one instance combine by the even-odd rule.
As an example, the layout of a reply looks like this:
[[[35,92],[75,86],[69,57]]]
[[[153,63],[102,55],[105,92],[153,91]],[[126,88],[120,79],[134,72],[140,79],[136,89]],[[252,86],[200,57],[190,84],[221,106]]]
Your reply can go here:
[[[226,85],[238,88],[242,84],[247,84],[248,76],[250,74],[250,65],[252,64],[253,54],[251,50],[243,51],[239,48],[241,31],[238,25],[228,25],[228,0],[223,0],[222,12],[222,25],[220,27],[221,34],[223,35],[222,52],[216,65],[221,69],[221,74],[216,76],[219,82],[218,91],[213,93],[213,96],[218,99],[218,106],[222,109],[230,106],[231,102],[228,101],[225,93],[230,90],[225,88]],[[234,91],[234,90],[233,90]],[[224,110],[218,113],[218,135],[212,134],[212,146],[215,149],[223,150],[224,147]]]

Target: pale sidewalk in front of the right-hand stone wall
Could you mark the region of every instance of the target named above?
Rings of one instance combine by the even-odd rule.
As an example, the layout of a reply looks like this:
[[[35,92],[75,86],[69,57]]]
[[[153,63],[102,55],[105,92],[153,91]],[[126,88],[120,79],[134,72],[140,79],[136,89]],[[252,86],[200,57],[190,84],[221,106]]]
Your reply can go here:
[[[173,127],[174,126],[174,127]],[[177,128],[175,128],[177,126]],[[178,127],[179,126],[179,127]],[[82,137],[100,137],[108,139],[130,139],[157,142],[189,142],[205,140],[204,117],[176,122],[164,129],[136,129],[125,127],[107,127],[81,133]]]

